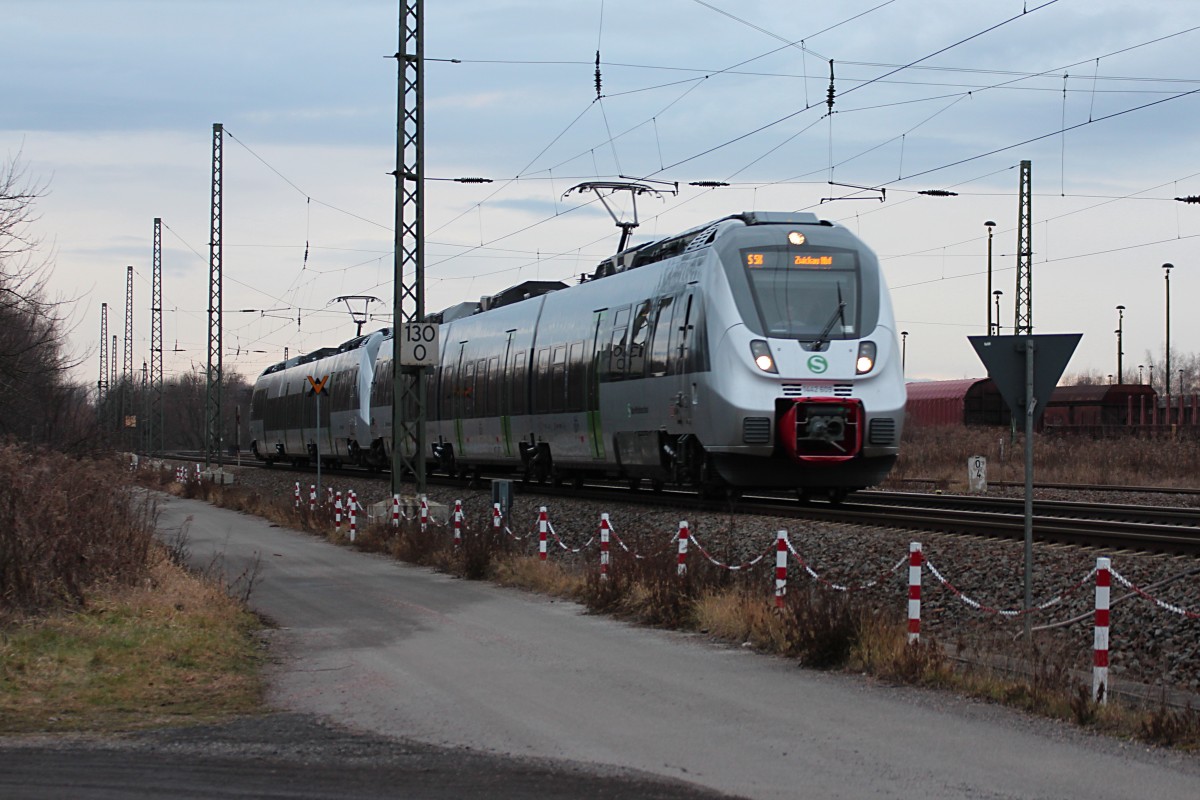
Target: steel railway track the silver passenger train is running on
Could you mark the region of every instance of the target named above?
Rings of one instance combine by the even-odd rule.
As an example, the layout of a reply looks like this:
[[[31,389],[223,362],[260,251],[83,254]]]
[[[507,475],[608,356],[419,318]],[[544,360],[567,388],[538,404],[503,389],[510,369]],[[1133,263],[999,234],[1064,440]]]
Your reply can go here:
[[[186,456],[180,455],[180,458]],[[257,462],[245,465],[258,465]],[[244,467],[245,467],[244,465]],[[276,471],[290,468],[277,464]],[[314,473],[313,468],[298,471]],[[386,479],[366,471],[324,470],[328,475],[355,475],[359,477]],[[433,475],[430,483],[438,486],[466,486],[457,479]],[[523,485],[514,481],[518,492],[546,497],[578,497],[587,491],[596,501],[613,504],[640,504],[658,507],[725,511],[745,515],[762,515],[793,519],[817,519],[856,525],[900,528],[914,531],[937,531],[989,536],[997,539],[1025,537],[1025,503],[1016,498],[990,498],[959,494],[930,494],[924,492],[869,491],[852,494],[840,504],[802,504],[784,495],[744,494],[737,500],[706,500],[694,493],[677,491],[631,492],[605,483],[584,487],[556,487],[552,485]],[[1051,488],[1043,486],[1042,488]],[[1064,488],[1054,485],[1052,488]],[[1076,487],[1072,487],[1076,488]],[[1079,487],[1097,491],[1099,487]],[[1142,487],[1104,487],[1106,491],[1176,492],[1176,489]],[[1033,539],[1037,542],[1057,542],[1105,549],[1132,549],[1150,553],[1200,555],[1200,510],[1176,509],[1157,505],[1079,503],[1063,500],[1034,500]]]

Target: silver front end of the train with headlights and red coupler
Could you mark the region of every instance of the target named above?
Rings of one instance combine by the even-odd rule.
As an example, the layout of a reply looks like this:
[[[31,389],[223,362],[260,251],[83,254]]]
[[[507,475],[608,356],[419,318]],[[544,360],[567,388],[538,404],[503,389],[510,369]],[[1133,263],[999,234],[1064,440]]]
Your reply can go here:
[[[716,467],[732,483],[833,498],[876,485],[895,463],[905,405],[878,259],[814,215],[745,219],[714,242],[737,315],[713,339],[709,421],[731,443],[709,447]]]

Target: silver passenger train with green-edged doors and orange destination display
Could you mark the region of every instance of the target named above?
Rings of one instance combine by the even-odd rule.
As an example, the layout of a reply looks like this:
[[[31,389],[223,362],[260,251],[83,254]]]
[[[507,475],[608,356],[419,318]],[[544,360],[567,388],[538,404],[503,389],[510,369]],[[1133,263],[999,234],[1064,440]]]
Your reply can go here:
[[[577,284],[461,303],[425,371],[431,471],[840,499],[895,463],[905,385],[875,254],[811,213],[744,212],[625,249]],[[265,369],[259,459],[391,461],[391,331]],[[329,375],[317,403],[308,377]]]

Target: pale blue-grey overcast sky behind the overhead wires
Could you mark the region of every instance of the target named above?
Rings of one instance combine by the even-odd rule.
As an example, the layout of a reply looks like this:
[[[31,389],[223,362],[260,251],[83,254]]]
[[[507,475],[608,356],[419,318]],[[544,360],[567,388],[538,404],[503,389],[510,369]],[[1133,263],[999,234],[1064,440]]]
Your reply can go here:
[[[983,375],[966,337],[986,327],[984,222],[1008,327],[1028,160],[1034,329],[1084,335],[1068,372],[1116,372],[1117,305],[1127,380],[1162,360],[1168,261],[1172,350],[1200,350],[1200,205],[1174,199],[1200,194],[1200,4],[1132,8],[426,2],[426,174],[494,181],[427,184],[427,309],[594,269],[618,230],[564,192],[628,175],[678,182],[640,200],[635,241],[752,209],[848,225],[882,259],[910,378]],[[342,295],[379,297],[366,330],[389,323],[397,17],[377,0],[0,0],[0,158],[47,186],[35,233],[77,305],[80,379],[98,374],[102,302],[124,335],[126,265],[134,369],[149,359],[155,217],[166,369],[203,369],[214,122],[226,369],[352,337]]]

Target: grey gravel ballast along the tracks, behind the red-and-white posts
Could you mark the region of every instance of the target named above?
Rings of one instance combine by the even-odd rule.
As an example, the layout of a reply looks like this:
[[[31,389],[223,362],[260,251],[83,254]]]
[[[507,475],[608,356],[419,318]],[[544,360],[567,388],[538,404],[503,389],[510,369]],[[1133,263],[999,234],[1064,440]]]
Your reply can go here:
[[[290,497],[295,481],[301,482],[302,501],[307,503],[312,476],[283,470],[241,468],[236,482],[265,495]],[[364,506],[386,501],[390,487],[384,480],[367,477],[334,479],[332,486],[343,492],[354,489]],[[917,533],[880,527],[823,523],[784,517],[748,517],[733,513],[679,509],[653,509],[642,505],[606,505],[587,499],[541,497],[523,493],[517,483],[512,513],[506,522],[518,547],[538,551],[538,509],[547,506],[551,527],[569,549],[552,537],[550,558],[575,559],[599,564],[599,548],[592,540],[601,512],[607,512],[617,534],[640,553],[674,552],[680,519],[686,519],[692,536],[718,560],[738,565],[763,557],[754,573],[762,576],[764,593],[772,591],[775,531],[786,529],[796,552],[827,583],[859,590],[880,606],[893,604],[904,614],[907,603],[906,561],[908,545],[919,540],[928,563],[956,591],[943,585],[926,570],[922,591],[922,633],[947,645],[960,656],[988,657],[1003,667],[1008,660],[1019,663],[1016,642],[1024,630],[1024,618],[1003,615],[988,609],[1016,610],[1024,601],[1024,545],[1019,541],[980,536]],[[1020,488],[991,492],[996,495],[1022,495]],[[468,528],[491,525],[490,489],[446,488],[431,486],[432,504],[452,509],[463,501]],[[1200,495],[1075,493],[1039,491],[1039,499],[1073,499],[1134,505],[1200,506]],[[389,512],[390,513],[390,512]],[[362,523],[360,523],[362,524]],[[446,525],[449,534],[449,525]],[[584,547],[587,545],[587,547]],[[618,545],[612,545],[616,551]],[[583,548],[580,553],[571,549]],[[1094,577],[1091,572],[1099,555],[1112,560],[1112,570],[1157,600],[1195,614],[1200,613],[1200,560],[1184,557],[1135,552],[1099,552],[1062,545],[1034,545],[1033,602],[1042,604],[1055,597],[1044,610],[1034,612],[1032,624],[1042,628],[1034,637],[1044,652],[1058,663],[1075,666],[1081,678],[1090,675],[1092,664],[1092,610]],[[689,553],[689,563],[704,558]],[[614,567],[616,569],[616,567]],[[1182,576],[1182,577],[1181,577]],[[794,558],[790,559],[790,582],[810,581]],[[794,584],[793,584],[794,585]],[[958,594],[961,593],[961,594]],[[970,597],[983,609],[973,608]],[[983,654],[986,654],[984,656]],[[1009,655],[1012,654],[1012,655]],[[1086,678],[1085,678],[1086,680]],[[1200,619],[1172,613],[1153,601],[1122,587],[1114,577],[1110,628],[1111,691],[1128,692],[1157,703],[1165,693],[1174,702],[1192,702],[1200,694]],[[1178,694],[1176,694],[1178,693]]]

